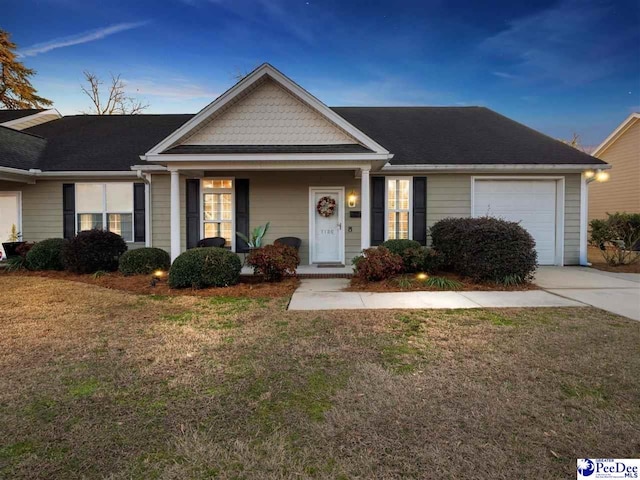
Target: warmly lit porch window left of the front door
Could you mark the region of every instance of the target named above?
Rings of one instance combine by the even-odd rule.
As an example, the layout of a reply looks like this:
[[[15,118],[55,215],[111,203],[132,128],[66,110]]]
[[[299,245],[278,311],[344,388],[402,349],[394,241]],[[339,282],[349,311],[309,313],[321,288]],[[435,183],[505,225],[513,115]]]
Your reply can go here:
[[[202,180],[202,229],[205,238],[222,237],[232,249],[234,235],[233,180]]]

